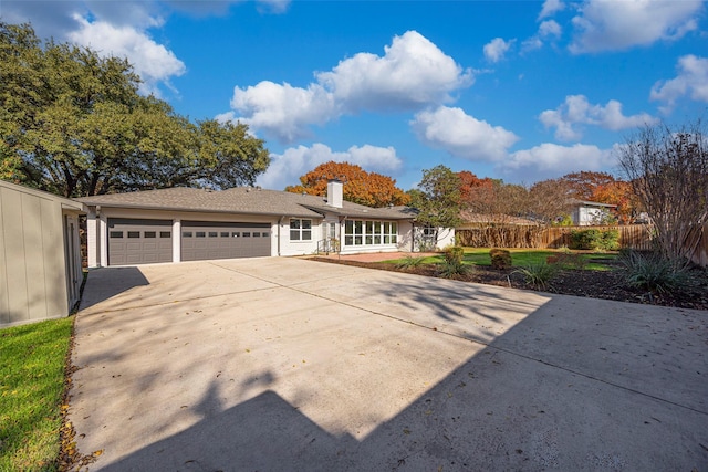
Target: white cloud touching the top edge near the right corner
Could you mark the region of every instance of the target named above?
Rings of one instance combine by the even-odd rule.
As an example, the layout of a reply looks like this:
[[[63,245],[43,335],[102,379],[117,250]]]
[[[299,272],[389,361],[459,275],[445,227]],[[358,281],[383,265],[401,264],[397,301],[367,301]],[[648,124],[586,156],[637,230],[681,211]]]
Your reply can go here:
[[[701,0],[586,0],[573,18],[573,53],[626,50],[697,29]]]

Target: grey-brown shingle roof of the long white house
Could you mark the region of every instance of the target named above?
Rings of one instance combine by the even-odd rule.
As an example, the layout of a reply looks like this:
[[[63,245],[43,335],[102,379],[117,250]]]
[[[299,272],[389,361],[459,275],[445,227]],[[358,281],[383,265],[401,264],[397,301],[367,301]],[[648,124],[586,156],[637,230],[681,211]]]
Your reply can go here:
[[[266,190],[258,187],[237,187],[228,190],[176,187],[83,197],[76,200],[92,207],[300,218],[322,218],[326,212],[352,218],[404,220],[415,218],[417,214],[414,209],[408,207],[369,208],[348,201],[344,201],[342,208],[335,208],[326,204],[322,197]]]

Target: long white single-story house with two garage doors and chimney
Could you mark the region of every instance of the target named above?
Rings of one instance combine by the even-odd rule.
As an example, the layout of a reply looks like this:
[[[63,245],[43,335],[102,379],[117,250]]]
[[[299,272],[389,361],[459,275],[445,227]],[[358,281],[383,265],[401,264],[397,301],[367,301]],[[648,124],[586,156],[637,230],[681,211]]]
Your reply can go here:
[[[322,252],[417,251],[425,228],[409,207],[369,208],[343,200],[238,187],[170,188],[95,197],[86,204],[88,266]],[[455,241],[437,231],[436,245]]]

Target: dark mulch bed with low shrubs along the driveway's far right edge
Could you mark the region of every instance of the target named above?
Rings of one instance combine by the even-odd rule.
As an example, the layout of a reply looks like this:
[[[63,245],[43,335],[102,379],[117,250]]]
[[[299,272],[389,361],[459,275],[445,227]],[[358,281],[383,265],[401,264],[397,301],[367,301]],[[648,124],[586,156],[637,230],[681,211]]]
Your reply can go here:
[[[310,259],[334,264],[438,276],[434,264],[425,264],[412,269],[398,269],[395,264],[383,262],[356,262],[327,258]],[[549,287],[546,292],[614,300],[618,302],[643,303],[647,305],[708,310],[708,272],[695,269],[691,279],[694,284],[685,287],[680,292],[653,294],[626,286],[620,268],[613,271],[561,270],[551,281],[551,287]],[[527,284],[523,275],[514,272],[513,269],[497,270],[490,266],[476,265],[471,273],[455,277],[455,280],[538,291],[537,287]]]

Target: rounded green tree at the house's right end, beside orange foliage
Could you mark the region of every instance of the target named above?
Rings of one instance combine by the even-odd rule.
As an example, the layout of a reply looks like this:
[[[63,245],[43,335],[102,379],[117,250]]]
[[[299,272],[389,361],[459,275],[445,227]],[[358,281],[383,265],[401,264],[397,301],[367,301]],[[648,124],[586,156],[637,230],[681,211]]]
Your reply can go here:
[[[423,170],[418,188],[410,190],[412,207],[418,209],[418,222],[435,228],[455,228],[461,223],[460,176],[446,166]]]

